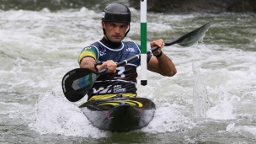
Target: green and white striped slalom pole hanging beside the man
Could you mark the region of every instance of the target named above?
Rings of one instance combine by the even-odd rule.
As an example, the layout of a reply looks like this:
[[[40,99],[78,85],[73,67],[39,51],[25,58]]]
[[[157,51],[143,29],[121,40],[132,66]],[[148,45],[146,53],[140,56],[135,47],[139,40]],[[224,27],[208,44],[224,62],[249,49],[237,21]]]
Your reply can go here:
[[[141,85],[147,85],[147,0],[141,0]]]

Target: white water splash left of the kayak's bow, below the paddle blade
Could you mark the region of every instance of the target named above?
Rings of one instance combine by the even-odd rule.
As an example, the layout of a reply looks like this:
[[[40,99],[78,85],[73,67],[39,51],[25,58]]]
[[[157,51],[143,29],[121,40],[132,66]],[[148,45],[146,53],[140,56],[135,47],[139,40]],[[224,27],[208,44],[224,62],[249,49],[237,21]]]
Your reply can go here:
[[[41,135],[60,134],[99,138],[108,134],[95,128],[75,104],[52,91],[40,94],[31,117],[30,129]]]

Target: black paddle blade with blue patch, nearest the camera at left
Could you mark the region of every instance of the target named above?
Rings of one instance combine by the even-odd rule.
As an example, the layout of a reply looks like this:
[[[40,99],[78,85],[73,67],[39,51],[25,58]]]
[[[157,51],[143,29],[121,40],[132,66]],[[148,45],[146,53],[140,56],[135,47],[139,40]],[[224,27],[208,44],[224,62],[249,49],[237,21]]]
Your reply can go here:
[[[73,69],[62,78],[62,90],[71,102],[82,99],[93,86],[98,74],[86,68]]]

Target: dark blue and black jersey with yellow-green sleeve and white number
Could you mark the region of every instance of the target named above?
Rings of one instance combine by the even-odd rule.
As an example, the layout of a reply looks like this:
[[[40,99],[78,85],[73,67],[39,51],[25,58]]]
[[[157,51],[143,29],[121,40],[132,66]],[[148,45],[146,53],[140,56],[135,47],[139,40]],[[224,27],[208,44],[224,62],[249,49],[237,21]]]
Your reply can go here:
[[[97,41],[88,47],[83,48],[78,61],[83,57],[91,56],[97,62],[113,60],[116,63],[140,54],[140,45],[135,42],[121,42],[120,48],[111,49],[102,42]],[[136,67],[139,67],[141,60],[131,61],[123,67],[117,67],[115,73],[104,73],[99,76],[93,87],[88,92],[88,99],[93,95],[111,93],[136,93]]]

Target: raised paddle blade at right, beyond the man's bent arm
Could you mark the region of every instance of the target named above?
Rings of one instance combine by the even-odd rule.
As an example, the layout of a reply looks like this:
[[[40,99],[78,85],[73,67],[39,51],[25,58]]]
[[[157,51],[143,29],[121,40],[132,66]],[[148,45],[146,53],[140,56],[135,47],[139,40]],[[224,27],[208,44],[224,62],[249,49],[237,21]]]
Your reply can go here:
[[[168,46],[168,45],[178,44],[184,47],[194,45],[200,39],[203,38],[203,36],[205,35],[205,32],[210,28],[210,26],[211,26],[211,22],[204,24],[200,28],[189,32],[189,34],[183,35],[176,40],[165,43],[165,45]]]

